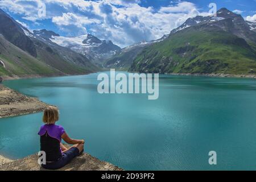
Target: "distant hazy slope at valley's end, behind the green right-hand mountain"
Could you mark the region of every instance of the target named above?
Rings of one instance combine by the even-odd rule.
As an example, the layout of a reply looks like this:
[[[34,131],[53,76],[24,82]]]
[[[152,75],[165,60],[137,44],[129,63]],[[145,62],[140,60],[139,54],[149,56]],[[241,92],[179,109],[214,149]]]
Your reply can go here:
[[[132,46],[125,47],[121,51],[115,53],[114,56],[107,59],[104,63],[105,68],[115,68],[119,70],[127,71],[131,64],[133,63],[134,58],[140,53],[145,47],[150,46],[151,44],[158,43],[166,39],[168,35],[164,35],[162,38],[157,40],[152,40],[150,42],[139,42]]]

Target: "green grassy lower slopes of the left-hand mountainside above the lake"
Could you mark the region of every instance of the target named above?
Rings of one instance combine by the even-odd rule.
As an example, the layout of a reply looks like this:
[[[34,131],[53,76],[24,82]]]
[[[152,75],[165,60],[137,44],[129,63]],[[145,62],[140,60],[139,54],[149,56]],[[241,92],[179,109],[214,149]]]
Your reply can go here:
[[[40,45],[39,45],[40,44]],[[14,46],[0,34],[0,60],[3,61],[6,68],[0,65],[0,76],[24,76],[24,75],[76,75],[96,72],[98,68],[92,63],[84,62],[80,55],[76,53],[72,59],[82,61],[82,65],[71,63],[60,56],[59,53],[48,47],[42,42],[35,43],[37,56],[31,56],[29,53]],[[75,57],[74,57],[75,56]],[[68,59],[68,58],[67,58]]]

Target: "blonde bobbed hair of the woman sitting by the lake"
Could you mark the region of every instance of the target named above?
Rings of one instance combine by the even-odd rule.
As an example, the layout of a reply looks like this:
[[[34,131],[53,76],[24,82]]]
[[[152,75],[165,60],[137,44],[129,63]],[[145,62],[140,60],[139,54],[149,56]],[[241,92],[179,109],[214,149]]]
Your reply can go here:
[[[54,124],[59,120],[59,110],[57,107],[49,106],[44,110],[43,122],[47,125]]]

